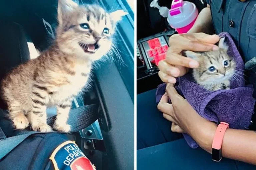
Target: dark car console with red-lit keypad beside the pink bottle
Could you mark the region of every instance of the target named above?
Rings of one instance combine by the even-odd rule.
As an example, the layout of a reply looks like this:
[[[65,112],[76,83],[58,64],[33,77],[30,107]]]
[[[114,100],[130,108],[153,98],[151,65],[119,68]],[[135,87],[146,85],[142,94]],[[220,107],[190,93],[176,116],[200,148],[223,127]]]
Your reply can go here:
[[[203,1],[188,1],[193,2],[199,12],[206,7]],[[151,2],[152,0],[137,0],[137,94],[155,89],[162,83],[158,77],[157,63],[165,58],[169,37],[177,34],[169,26],[167,19],[159,14],[159,10],[150,7]],[[158,0],[157,3],[160,7],[170,9],[172,1]],[[157,47],[159,42],[161,45]],[[153,54],[149,56],[147,53],[150,51]]]

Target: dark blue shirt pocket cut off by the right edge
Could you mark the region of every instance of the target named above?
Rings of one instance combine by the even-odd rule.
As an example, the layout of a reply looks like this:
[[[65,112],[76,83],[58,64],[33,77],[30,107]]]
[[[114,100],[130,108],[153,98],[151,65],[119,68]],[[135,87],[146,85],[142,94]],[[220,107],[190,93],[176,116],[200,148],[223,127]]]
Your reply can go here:
[[[247,21],[247,35],[256,40],[256,4],[253,5]]]

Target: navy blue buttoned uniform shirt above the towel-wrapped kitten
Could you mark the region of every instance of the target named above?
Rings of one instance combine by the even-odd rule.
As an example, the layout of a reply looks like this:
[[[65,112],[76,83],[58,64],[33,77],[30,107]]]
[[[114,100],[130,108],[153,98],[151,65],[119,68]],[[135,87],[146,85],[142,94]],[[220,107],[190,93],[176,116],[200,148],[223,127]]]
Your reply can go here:
[[[245,63],[256,57],[256,0],[206,0],[206,2],[211,8],[216,34],[228,32]],[[254,87],[256,87],[255,72],[256,70],[247,71],[248,77],[245,77],[247,83],[254,84]],[[253,126],[250,128],[256,130],[255,115],[252,122]]]

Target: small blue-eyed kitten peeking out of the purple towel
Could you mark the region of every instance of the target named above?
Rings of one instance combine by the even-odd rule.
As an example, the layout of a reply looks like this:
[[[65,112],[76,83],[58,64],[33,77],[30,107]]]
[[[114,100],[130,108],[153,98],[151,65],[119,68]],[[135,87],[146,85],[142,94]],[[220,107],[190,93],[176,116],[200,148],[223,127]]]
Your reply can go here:
[[[209,91],[230,89],[230,79],[237,72],[234,59],[228,55],[225,38],[219,41],[219,50],[208,52],[184,51],[189,58],[197,60],[199,67],[193,69],[195,81]]]

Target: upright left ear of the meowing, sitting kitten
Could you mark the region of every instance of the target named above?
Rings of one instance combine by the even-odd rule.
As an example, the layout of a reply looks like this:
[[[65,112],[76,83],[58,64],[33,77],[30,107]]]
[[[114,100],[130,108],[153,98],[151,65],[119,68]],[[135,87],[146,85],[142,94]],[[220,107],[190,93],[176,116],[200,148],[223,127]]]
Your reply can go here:
[[[58,21],[59,24],[63,24],[63,19],[68,16],[68,13],[73,11],[78,4],[72,0],[59,0],[58,1]]]

